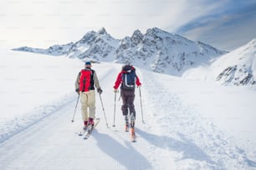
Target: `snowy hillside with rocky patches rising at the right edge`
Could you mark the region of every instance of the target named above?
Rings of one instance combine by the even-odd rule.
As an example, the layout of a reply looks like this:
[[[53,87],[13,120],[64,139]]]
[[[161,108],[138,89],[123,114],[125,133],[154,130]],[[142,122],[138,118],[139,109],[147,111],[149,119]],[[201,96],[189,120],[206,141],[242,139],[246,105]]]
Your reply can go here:
[[[223,85],[249,86],[256,82],[256,39],[205,65],[188,69],[182,77],[217,81]]]

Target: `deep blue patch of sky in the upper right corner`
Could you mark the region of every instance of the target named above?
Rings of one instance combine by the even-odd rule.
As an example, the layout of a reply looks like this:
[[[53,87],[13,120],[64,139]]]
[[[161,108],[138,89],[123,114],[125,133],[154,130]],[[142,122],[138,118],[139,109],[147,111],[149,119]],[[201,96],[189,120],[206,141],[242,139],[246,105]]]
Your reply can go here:
[[[183,25],[176,32],[232,50],[256,37],[256,1],[223,2],[223,6]]]

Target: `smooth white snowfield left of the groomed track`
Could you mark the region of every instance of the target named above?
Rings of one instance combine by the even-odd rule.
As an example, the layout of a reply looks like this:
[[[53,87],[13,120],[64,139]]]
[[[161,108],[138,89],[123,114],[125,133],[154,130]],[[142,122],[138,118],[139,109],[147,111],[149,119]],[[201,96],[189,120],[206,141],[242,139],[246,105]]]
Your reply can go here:
[[[0,50],[0,56],[2,142],[73,101],[80,61],[10,50]]]

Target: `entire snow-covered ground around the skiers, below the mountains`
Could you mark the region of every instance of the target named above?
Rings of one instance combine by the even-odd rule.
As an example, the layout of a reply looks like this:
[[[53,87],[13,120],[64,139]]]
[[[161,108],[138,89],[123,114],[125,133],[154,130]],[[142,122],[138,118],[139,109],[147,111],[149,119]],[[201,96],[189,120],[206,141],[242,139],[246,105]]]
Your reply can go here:
[[[2,93],[11,92],[12,89],[14,92],[1,98],[1,101],[6,100],[1,107],[13,106],[14,95],[26,98],[28,102],[33,99],[41,100],[40,112],[33,110],[36,106],[34,103],[30,108],[26,108],[29,111],[27,114],[21,115],[17,107],[2,114],[0,165],[3,170],[256,169],[256,135],[253,131],[256,128],[253,123],[253,101],[256,99],[254,91],[188,81],[148,72],[138,67],[137,74],[143,84],[141,97],[146,123],[141,122],[140,95],[136,90],[137,143],[131,143],[129,133],[124,132],[121,102],[116,102],[116,127],[111,127],[114,111],[113,83],[121,65],[95,63],[93,67],[103,88],[102,99],[110,128],[105,126],[97,94],[96,116],[100,117],[101,121],[91,138],[84,141],[78,136],[82,126],[79,109],[75,122],[70,122],[77,99],[74,93],[74,79],[83,62],[64,57],[41,57],[38,54],[26,57],[20,52],[2,54],[0,71],[5,73],[1,73],[1,82],[4,82],[1,83]],[[44,69],[38,70],[38,67],[34,67],[38,63],[39,67]],[[15,73],[12,72],[12,67],[17,68],[21,75],[31,72],[28,76],[39,76],[41,90],[33,94],[23,94],[23,91],[32,91],[31,88],[35,84],[30,78],[26,79],[28,83],[23,84],[22,77],[16,81],[18,88],[8,88],[9,84],[6,83],[11,81],[11,75]],[[57,76],[59,70],[63,70],[65,77]],[[10,71],[11,74],[7,74],[6,71]],[[59,77],[59,81],[54,81],[51,77],[54,77],[54,80]],[[47,88],[48,91],[53,90],[57,94],[53,92],[41,97],[47,92]],[[221,97],[221,100],[218,97]],[[243,102],[238,102],[241,97]],[[21,103],[26,104],[26,101]],[[46,101],[52,102],[49,105]],[[233,105],[233,102],[236,104]],[[223,105],[220,105],[221,103]],[[231,107],[233,109],[230,110]],[[9,114],[14,117],[9,117]],[[238,118],[232,118],[231,115]],[[31,117],[32,122],[26,122],[28,117]],[[22,126],[9,123],[13,119]],[[235,128],[232,127],[233,124],[236,125]],[[5,134],[9,138],[6,138]]]

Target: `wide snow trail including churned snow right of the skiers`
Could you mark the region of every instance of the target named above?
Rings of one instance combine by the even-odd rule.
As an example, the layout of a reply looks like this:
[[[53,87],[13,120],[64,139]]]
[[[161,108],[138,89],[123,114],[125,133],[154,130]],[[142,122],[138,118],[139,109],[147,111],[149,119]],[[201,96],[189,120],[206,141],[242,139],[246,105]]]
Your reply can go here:
[[[121,101],[116,101],[113,124],[115,77],[118,64],[95,67],[103,89],[102,100],[110,128],[105,126],[100,98],[96,94],[96,117],[100,123],[88,140],[79,137],[82,128],[78,110],[71,123],[73,102],[23,132],[0,143],[0,169],[253,169],[242,149],[203,120],[172,89],[157,81],[156,73],[141,70],[144,119],[136,90],[137,142],[124,132]],[[74,80],[74,78],[71,78]],[[120,93],[117,95],[119,98]],[[71,100],[72,101],[72,100]]]

